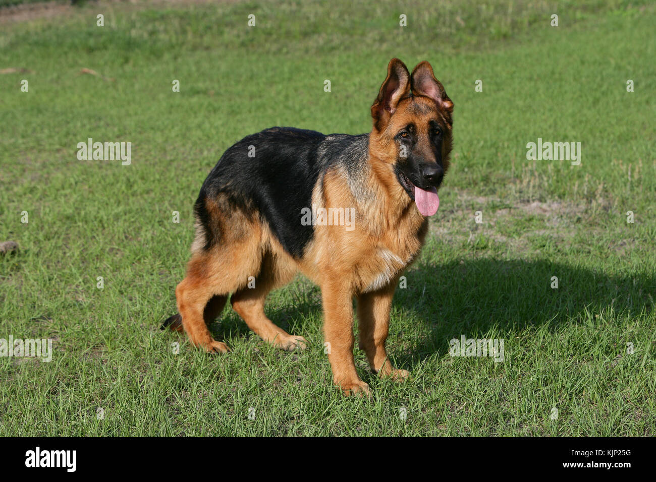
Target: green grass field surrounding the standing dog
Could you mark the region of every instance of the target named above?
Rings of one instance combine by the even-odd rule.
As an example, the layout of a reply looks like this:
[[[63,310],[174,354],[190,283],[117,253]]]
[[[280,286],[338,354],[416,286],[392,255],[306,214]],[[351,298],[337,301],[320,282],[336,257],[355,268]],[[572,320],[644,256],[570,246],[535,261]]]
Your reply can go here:
[[[0,255],[0,338],[53,340],[50,363],[0,357],[0,435],[656,432],[656,7],[411,5],[0,14],[0,71],[17,69],[0,74],[0,241],[20,246]],[[228,355],[160,331],[176,311],[192,204],[222,152],[274,125],[369,131],[395,56],[431,62],[455,103],[440,211],[392,308],[388,352],[411,378],[379,380],[356,348],[374,395],[343,397],[319,290],[302,277],[267,313],[308,350],[271,348],[229,308],[212,327]],[[132,142],[131,165],[79,161],[87,138]],[[581,165],[527,161],[537,138],[581,142]],[[451,357],[463,334],[502,338],[504,361]]]

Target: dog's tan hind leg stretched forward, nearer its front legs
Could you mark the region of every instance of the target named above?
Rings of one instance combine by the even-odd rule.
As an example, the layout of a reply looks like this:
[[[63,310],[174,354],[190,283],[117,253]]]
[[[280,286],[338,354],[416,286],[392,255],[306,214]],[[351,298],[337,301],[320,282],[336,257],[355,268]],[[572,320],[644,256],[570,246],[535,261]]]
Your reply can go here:
[[[295,271],[291,263],[280,260],[268,252],[262,258],[262,266],[255,279],[255,284],[240,289],[230,298],[232,308],[237,311],[251,330],[262,340],[287,351],[297,348],[303,350],[306,348],[307,340],[302,336],[287,333],[268,319],[264,314],[264,300],[272,289],[288,283]]]

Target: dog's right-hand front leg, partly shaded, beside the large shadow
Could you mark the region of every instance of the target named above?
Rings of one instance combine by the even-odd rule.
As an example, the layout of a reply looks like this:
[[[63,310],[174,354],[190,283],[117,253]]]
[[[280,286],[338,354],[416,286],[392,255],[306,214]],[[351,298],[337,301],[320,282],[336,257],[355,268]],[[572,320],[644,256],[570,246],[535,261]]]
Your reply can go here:
[[[359,347],[367,354],[371,369],[381,378],[391,376],[401,381],[410,373],[392,367],[385,351],[395,288],[396,281],[378,291],[358,294]]]

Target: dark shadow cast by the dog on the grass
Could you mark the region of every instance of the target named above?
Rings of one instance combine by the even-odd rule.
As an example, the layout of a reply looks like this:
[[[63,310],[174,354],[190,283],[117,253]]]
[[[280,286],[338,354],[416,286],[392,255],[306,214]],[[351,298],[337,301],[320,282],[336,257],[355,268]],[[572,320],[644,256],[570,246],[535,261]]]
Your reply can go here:
[[[527,327],[543,325],[554,331],[564,323],[584,323],[590,313],[611,308],[637,315],[653,309],[656,293],[653,274],[605,275],[549,260],[420,262],[404,276],[394,294],[388,352],[398,367],[406,369],[426,357],[445,354],[449,340],[463,334],[511,338]],[[319,290],[308,282],[284,290],[282,302],[276,302],[283,308],[267,308],[267,315],[287,331],[309,331],[305,325],[321,317]],[[285,302],[290,296],[292,301]],[[399,333],[399,326],[407,325],[408,319],[421,323],[420,329]],[[236,313],[228,315],[227,309],[213,329],[219,337],[249,333]],[[397,344],[401,340],[401,346],[392,340]]]

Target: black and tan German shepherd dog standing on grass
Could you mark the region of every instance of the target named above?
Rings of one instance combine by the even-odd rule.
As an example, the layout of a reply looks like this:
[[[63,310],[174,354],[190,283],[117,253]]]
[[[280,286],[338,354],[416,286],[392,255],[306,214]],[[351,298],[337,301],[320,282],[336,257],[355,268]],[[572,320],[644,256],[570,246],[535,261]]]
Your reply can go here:
[[[428,62],[410,74],[393,58],[371,106],[371,133],[273,127],[237,142],[201,187],[192,258],[175,291],[179,314],[163,327],[184,328],[195,346],[224,353],[207,324],[232,294],[232,308],[263,340],[303,349],[305,338],[264,314],[268,292],[300,271],[321,288],[333,382],[346,395],[370,393],[354,363],[354,296],[371,369],[403,380],[409,372],[394,369],[385,351],[390,307],[440,204],[452,113]],[[354,214],[350,228],[343,212]]]

